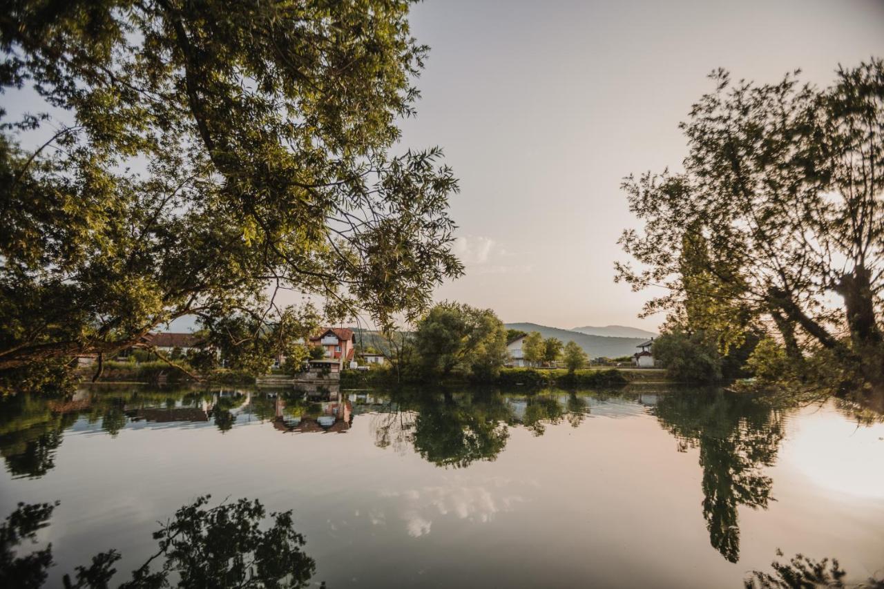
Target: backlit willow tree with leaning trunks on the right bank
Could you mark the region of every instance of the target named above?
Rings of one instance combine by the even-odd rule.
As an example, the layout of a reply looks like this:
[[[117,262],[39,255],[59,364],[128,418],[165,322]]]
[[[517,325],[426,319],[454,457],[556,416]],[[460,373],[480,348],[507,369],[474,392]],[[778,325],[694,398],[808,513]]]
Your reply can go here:
[[[736,332],[758,321],[796,360],[825,348],[881,386],[884,63],[841,68],[829,88],[798,75],[713,73],[681,125],[684,171],[624,182],[645,224],[621,237],[641,267],[618,275],[668,288],[648,311]]]

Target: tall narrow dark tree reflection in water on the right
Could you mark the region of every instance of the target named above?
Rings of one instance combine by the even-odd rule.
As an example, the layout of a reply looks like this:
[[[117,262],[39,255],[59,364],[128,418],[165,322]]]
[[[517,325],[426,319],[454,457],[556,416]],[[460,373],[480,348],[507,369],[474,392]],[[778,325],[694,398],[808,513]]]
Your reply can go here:
[[[776,459],[781,414],[758,399],[721,389],[664,395],[654,413],[678,440],[679,451],[699,448],[709,539],[729,562],[737,562],[737,508],[766,509],[774,501],[773,481],[763,469]]]

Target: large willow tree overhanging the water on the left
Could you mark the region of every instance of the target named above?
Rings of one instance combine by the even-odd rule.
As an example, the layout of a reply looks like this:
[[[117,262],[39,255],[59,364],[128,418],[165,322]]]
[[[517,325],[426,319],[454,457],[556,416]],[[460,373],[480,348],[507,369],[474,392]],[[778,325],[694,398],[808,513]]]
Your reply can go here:
[[[0,370],[185,315],[257,336],[286,289],[417,317],[462,266],[440,150],[391,152],[428,50],[410,4],[4,3],[0,84],[36,111],[3,113]]]

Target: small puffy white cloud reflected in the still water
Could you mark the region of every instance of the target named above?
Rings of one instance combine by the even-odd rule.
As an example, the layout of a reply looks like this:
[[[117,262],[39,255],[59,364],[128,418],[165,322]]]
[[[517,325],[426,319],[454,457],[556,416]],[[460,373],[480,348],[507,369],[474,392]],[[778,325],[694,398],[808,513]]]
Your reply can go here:
[[[408,491],[389,491],[381,496],[399,500],[404,505],[400,518],[406,523],[408,535],[419,538],[430,533],[434,516],[457,516],[470,522],[485,523],[495,514],[513,509],[524,499],[519,495],[498,495],[496,491],[504,488],[506,483],[495,479],[490,486],[424,486]]]

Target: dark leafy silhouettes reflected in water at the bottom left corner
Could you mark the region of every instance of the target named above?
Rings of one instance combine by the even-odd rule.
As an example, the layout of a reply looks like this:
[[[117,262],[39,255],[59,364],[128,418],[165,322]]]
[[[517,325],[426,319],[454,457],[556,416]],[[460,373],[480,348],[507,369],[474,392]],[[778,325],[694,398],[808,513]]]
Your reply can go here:
[[[305,587],[316,563],[301,548],[304,537],[294,531],[292,512],[271,513],[260,501],[240,499],[207,507],[209,495],[180,508],[154,532],[158,550],[121,589],[169,587]],[[36,532],[49,524],[49,503],[19,503],[0,524],[0,586],[40,587],[54,564],[51,544],[30,555],[19,556],[16,547],[36,540]],[[78,566],[74,578],[65,574],[69,588],[106,588],[121,558],[116,550],[93,556],[88,566]]]

